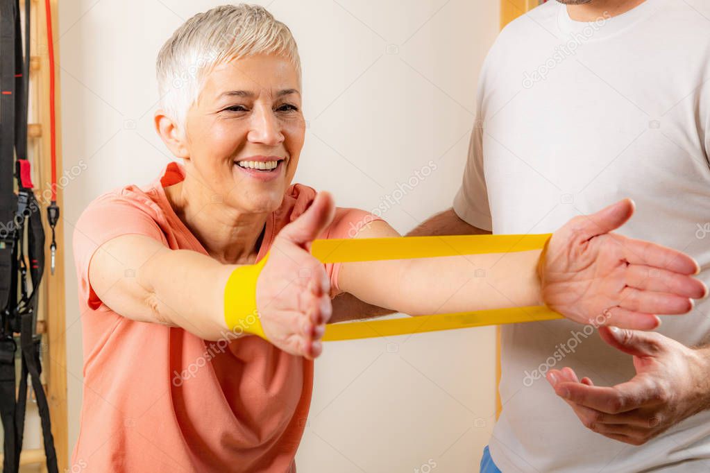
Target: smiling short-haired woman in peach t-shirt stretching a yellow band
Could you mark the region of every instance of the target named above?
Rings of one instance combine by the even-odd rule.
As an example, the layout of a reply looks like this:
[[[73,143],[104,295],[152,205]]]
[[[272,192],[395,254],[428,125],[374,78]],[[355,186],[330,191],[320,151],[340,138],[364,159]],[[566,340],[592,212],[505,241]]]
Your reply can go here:
[[[258,6],[200,13],[160,50],[158,82],[155,127],[184,164],[99,196],[74,235],[84,399],[73,461],[87,471],[295,471],[312,359],[340,293],[414,315],[544,301],[577,321],[604,311],[650,329],[653,313],[687,312],[706,292],[686,255],[608,234],[630,201],[555,233],[540,277],[539,250],[322,265],[315,238],[399,235],[291,184],[305,123],[288,28]],[[262,338],[226,323],[224,291],[267,252]]]

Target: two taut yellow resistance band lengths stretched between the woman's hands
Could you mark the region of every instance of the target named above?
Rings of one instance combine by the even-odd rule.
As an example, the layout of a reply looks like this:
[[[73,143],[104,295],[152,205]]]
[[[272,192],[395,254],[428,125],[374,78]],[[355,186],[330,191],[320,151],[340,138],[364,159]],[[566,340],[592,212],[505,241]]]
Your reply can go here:
[[[315,240],[311,253],[323,263],[404,260],[437,256],[476,255],[540,250],[545,235],[455,235],[405,238]],[[324,341],[389,337],[453,328],[549,321],[562,318],[544,306],[501,308],[486,311],[442,313],[434,316],[391,318],[326,326]]]

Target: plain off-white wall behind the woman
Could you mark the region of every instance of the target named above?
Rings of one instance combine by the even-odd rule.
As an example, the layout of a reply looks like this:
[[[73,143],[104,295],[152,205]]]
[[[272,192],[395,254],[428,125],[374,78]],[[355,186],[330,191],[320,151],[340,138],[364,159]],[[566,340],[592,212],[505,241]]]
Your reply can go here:
[[[149,182],[170,160],[152,126],[155,55],[182,21],[219,4],[130,3],[60,2],[64,166],[87,165],[65,189],[62,209],[72,446],[82,389],[72,223],[98,194]],[[373,210],[389,196],[396,203],[384,218],[402,233],[451,206],[498,2],[258,3],[300,45],[309,128],[296,181],[332,191],[340,206]],[[399,184],[430,160],[435,172],[403,193]],[[300,471],[426,472],[433,463],[474,471],[493,427],[493,335],[479,328],[327,344],[316,363]]]

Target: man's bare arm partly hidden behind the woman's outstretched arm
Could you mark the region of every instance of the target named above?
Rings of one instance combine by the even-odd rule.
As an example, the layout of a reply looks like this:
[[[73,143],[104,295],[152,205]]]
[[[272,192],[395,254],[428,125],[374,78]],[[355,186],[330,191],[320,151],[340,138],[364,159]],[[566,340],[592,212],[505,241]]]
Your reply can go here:
[[[457,216],[453,208],[449,208],[427,218],[426,221],[407,233],[407,236],[486,235],[489,233],[491,232],[488,230],[481,230],[481,228],[469,225]],[[363,302],[352,294],[343,293],[333,299],[331,321],[342,322],[356,318],[372,318],[386,316],[388,313],[393,313],[393,311]]]

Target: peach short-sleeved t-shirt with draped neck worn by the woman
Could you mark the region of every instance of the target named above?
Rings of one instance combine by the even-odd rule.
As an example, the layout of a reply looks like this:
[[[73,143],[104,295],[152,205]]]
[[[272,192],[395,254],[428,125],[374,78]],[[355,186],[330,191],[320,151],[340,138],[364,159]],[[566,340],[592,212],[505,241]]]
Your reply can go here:
[[[72,464],[89,472],[295,471],[312,362],[255,336],[207,342],[182,328],[131,321],[103,304],[89,283],[94,251],[119,235],[147,235],[173,250],[207,255],[165,197],[163,187],[184,178],[182,165],[171,162],[149,187],[103,194],[77,221],[84,400]],[[258,259],[315,194],[302,184],[288,188],[266,222]],[[349,238],[373,219],[338,208],[320,238]],[[339,265],[325,266],[334,296]]]

